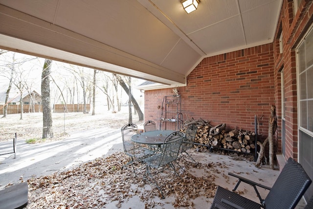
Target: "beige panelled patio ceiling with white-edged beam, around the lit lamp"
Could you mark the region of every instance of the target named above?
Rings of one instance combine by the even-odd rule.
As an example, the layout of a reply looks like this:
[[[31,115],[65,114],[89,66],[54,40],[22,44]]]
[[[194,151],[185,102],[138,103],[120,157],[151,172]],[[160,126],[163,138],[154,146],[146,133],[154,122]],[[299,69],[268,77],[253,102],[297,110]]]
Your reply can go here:
[[[282,0],[0,0],[0,48],[186,84],[205,57],[272,43]]]

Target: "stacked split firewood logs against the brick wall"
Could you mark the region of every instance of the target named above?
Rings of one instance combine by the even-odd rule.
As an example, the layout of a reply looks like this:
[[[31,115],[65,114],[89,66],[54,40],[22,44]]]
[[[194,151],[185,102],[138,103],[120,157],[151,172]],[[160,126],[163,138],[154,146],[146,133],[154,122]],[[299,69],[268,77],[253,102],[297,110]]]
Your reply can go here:
[[[210,125],[210,121],[203,119],[185,121],[184,125],[185,127],[189,125],[198,127],[195,137],[195,146],[198,148],[213,146],[245,153],[250,153],[251,149],[255,149],[255,133],[253,131],[242,129],[227,131],[225,123],[213,127]]]

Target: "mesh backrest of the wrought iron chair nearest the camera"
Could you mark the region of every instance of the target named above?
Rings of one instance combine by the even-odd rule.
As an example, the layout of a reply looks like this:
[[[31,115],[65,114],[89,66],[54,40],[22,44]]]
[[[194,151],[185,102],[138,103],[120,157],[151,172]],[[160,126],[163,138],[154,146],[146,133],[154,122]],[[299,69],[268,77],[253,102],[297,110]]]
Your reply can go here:
[[[182,132],[176,131],[164,139],[158,166],[162,166],[177,160],[183,136],[184,135]]]

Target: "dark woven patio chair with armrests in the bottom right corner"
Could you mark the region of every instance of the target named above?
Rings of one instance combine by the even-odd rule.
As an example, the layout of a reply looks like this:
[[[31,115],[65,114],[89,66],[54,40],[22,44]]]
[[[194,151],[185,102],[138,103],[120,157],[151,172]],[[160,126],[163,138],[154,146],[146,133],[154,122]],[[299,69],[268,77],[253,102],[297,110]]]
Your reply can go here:
[[[271,188],[235,174],[231,175],[239,178],[239,182],[233,191],[237,189],[241,182],[245,182],[254,187],[261,203],[258,204],[235,192],[231,192],[218,186],[211,209],[293,209],[296,207],[312,182],[302,166],[292,158],[288,159],[286,165]],[[256,186],[269,189],[268,195],[264,200],[260,197],[260,193]]]

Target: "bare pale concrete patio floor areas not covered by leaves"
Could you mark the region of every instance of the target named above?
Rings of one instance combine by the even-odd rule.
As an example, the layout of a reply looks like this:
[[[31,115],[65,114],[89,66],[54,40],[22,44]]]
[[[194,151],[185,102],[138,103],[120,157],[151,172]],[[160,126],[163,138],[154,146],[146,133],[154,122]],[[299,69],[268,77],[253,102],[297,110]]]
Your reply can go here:
[[[9,142],[0,142],[0,147]],[[95,129],[72,133],[68,139],[51,141],[38,144],[27,144],[18,140],[16,158],[13,154],[0,156],[0,189],[8,184],[26,181],[32,177],[50,175],[78,166],[80,163],[92,161],[98,157],[106,157],[116,151],[122,151],[122,139],[120,129]],[[253,162],[235,160],[229,155],[219,155],[210,152],[193,152],[193,158],[202,164],[212,164],[212,172],[217,176],[213,181],[216,185],[231,190],[237,183],[237,179],[228,176],[228,172],[242,175],[250,180],[266,186],[272,186],[279,175],[279,169],[269,169],[268,165],[256,168]],[[201,176],[205,173],[201,169],[192,168],[186,172]],[[151,189],[156,189],[152,187]],[[243,196],[259,202],[253,187],[242,183],[238,189]],[[262,197],[266,197],[268,191],[260,189]],[[155,202],[160,203],[160,209],[173,209],[174,197],[165,199],[156,197]],[[200,196],[193,200],[193,208],[210,208],[213,198]],[[304,208],[301,201],[297,209]],[[105,205],[106,209],[115,209],[116,202]],[[144,209],[145,203],[139,197],[133,196],[127,202],[123,202],[121,208]],[[155,207],[158,208],[158,207]]]

